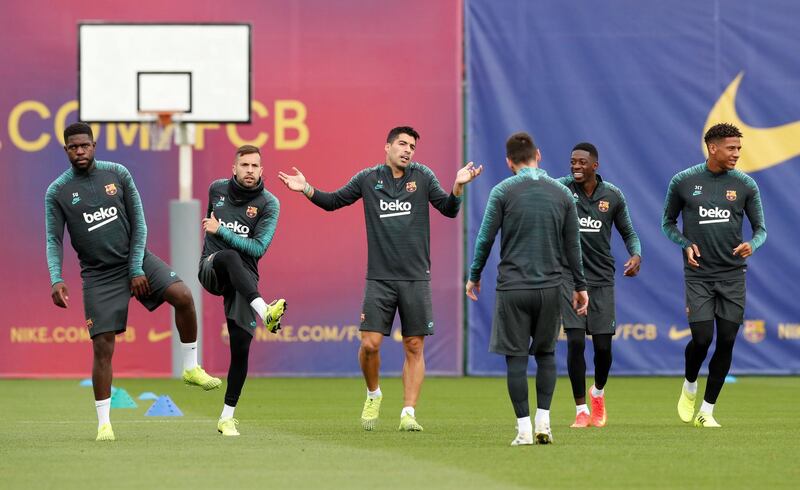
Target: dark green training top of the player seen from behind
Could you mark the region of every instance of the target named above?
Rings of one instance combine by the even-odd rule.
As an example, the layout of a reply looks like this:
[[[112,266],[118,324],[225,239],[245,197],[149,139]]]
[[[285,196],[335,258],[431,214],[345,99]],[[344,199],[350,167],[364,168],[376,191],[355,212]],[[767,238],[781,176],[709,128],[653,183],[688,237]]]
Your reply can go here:
[[[471,281],[480,280],[498,229],[502,230],[498,290],[560,286],[562,255],[575,291],[586,290],[575,202],[569,190],[543,169],[523,167],[492,189],[475,240]]]

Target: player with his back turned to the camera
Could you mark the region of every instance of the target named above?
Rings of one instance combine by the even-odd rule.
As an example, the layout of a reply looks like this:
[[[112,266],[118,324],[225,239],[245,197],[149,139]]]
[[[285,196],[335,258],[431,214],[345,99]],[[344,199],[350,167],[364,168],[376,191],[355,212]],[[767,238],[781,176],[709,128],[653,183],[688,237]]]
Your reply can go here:
[[[562,254],[575,291],[573,307],[585,315],[589,296],[581,264],[578,215],[572,194],[539,168],[542,155],[527,133],[506,142],[514,174],[492,189],[470,267],[466,294],[477,301],[481,272],[498,229],[500,264],[489,351],[506,357],[508,394],[517,415],[512,446],[550,444],[550,402],[556,386],[555,348],[559,331]],[[528,356],[536,358],[536,416],[528,406]]]

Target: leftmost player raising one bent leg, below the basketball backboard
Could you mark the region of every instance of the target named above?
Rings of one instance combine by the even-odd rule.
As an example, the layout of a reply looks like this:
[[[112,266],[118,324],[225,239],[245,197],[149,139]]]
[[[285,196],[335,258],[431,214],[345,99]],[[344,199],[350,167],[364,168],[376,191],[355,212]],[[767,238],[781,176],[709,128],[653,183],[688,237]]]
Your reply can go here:
[[[97,440],[113,441],[111,358],[115,335],[125,331],[132,295],[150,311],[165,301],[175,308],[186,384],[212,390],[221,381],[197,364],[197,316],[191,291],[145,248],[147,225],[131,174],[118,163],[96,160],[95,147],[88,124],[75,123],[64,130],[64,150],[71,167],[50,184],[45,195],[47,266],[53,303],[67,308],[69,292],[61,277],[66,224],[80,261],[86,327],[94,350]]]

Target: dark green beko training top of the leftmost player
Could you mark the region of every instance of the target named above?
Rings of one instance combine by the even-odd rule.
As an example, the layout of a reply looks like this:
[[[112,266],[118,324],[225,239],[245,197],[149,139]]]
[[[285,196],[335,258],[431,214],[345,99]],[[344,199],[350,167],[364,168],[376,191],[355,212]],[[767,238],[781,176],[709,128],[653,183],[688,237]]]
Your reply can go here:
[[[64,224],[78,254],[84,287],[144,275],[147,225],[128,169],[95,160],[86,172],[70,167],[47,188],[47,267],[50,284],[63,282]]]

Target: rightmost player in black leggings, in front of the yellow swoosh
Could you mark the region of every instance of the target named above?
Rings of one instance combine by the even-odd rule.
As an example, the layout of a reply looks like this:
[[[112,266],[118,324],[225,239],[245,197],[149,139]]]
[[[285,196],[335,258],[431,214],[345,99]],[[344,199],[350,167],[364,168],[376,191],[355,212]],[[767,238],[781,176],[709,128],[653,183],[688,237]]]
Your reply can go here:
[[[736,170],[742,133],[731,124],[716,124],[704,140],[708,159],[679,172],[669,183],[662,229],[684,251],[686,313],[692,339],[686,345],[685,374],[678,415],[691,422],[697,398],[697,375],[714,338],[708,380],[695,427],[720,427],[714,405],[731,367],[733,344],[744,319],[746,259],[767,239],[764,210],[756,182]],[[678,229],[682,215],[683,233]],[[743,215],[753,237],[742,239]]]

